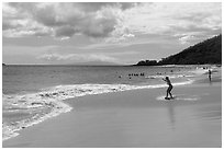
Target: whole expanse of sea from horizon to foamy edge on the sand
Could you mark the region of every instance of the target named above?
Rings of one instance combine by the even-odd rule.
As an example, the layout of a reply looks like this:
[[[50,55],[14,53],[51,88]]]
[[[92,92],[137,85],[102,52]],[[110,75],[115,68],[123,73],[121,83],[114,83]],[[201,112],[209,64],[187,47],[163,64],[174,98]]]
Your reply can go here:
[[[135,89],[189,84],[197,66],[3,66],[2,137],[72,109],[65,100]],[[200,73],[204,73],[201,70]]]

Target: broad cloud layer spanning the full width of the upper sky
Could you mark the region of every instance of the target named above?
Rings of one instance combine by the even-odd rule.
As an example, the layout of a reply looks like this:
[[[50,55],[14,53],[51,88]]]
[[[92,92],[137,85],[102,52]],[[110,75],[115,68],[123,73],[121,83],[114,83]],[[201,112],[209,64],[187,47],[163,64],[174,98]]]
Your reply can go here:
[[[186,39],[222,31],[222,3],[12,2],[3,3],[2,30],[4,37],[68,39],[81,34],[105,43],[157,34],[177,37],[184,44]]]

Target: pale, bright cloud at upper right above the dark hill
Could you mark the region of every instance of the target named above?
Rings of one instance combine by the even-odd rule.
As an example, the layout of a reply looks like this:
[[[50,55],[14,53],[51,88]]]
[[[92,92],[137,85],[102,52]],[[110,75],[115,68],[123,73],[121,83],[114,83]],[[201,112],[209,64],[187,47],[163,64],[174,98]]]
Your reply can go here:
[[[142,3],[127,11],[124,25],[138,35],[190,34],[189,39],[199,35],[203,39],[222,31],[222,4],[217,2]]]

